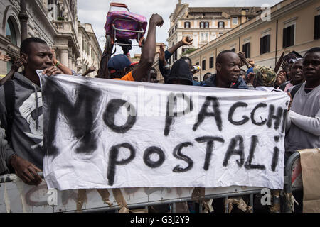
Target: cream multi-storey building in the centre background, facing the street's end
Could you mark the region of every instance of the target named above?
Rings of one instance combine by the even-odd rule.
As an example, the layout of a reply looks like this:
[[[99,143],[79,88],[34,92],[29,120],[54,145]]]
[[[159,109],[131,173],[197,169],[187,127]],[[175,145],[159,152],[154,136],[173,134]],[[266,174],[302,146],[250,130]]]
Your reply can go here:
[[[193,45],[178,49],[169,63],[249,21],[260,11],[260,7],[189,7],[179,0],[170,15],[171,27],[166,41],[171,48],[183,36],[189,35],[193,38]]]

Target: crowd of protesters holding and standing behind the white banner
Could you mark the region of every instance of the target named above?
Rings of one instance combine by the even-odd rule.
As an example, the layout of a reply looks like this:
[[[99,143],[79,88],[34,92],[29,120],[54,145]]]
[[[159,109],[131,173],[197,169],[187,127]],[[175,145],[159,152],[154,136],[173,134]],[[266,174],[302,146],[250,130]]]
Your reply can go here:
[[[151,16],[139,63],[132,63],[131,47],[123,45],[123,55],[102,60],[98,77],[157,83],[158,72],[152,65],[156,56],[156,27],[163,23],[158,14]],[[203,81],[198,81],[194,77],[198,68],[189,57],[181,57],[172,67],[167,62],[178,48],[192,43],[190,37],[184,37],[169,50],[161,45],[159,71],[165,84],[287,92],[292,104],[287,114],[286,157],[297,150],[320,148],[320,47],[311,48],[304,56],[297,52],[282,55],[275,69],[256,65],[241,52],[224,50],[216,58],[216,72],[207,73]],[[0,53],[0,60],[11,59]],[[55,74],[85,77],[96,69],[90,67],[84,74],[77,74],[55,58],[54,50],[45,41],[27,38],[21,43],[20,59],[0,80],[0,175],[16,173],[26,184],[35,185],[41,182],[38,172],[43,170],[45,155],[41,86],[36,70],[43,70],[48,77]]]

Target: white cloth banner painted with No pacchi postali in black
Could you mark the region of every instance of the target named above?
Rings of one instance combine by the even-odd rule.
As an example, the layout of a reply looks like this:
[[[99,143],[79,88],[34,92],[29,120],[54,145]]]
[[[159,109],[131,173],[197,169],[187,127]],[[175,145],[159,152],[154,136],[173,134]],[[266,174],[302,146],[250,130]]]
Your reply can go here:
[[[284,184],[289,96],[41,76],[48,188]]]

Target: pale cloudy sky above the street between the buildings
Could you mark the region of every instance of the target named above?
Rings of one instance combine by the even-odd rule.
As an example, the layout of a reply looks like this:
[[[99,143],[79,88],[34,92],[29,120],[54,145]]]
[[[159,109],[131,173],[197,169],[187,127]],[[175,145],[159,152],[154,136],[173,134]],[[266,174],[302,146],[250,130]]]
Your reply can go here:
[[[188,3],[191,7],[239,7],[239,6],[262,6],[262,4],[270,4],[273,6],[280,0],[223,0],[223,1],[212,1],[212,0],[182,0],[182,3]],[[103,48],[103,36],[105,36],[105,21],[107,12],[109,11],[110,2],[105,0],[78,0],[78,18],[81,23],[91,23],[92,27],[100,38],[100,46]],[[169,16],[174,12],[178,0],[162,0],[162,1],[151,1],[151,0],[118,0],[115,2],[121,2],[127,4],[130,11],[146,16],[149,21],[152,13],[158,13],[164,18],[164,26],[157,28],[156,41],[166,43],[168,38],[168,31],[170,26]],[[115,8],[117,9],[117,8]],[[120,48],[117,48],[118,50]],[[140,53],[139,48],[133,48],[131,54]]]

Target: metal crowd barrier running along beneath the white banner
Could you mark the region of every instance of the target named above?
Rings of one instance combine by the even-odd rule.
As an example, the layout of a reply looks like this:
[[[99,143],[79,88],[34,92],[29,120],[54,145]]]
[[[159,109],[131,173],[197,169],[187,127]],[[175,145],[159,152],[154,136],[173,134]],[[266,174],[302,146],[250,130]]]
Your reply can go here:
[[[41,174],[42,177],[42,174]],[[111,191],[111,190],[109,190]],[[124,199],[127,200],[126,208],[145,209],[148,206],[170,205],[172,213],[176,211],[176,203],[195,201],[192,198],[193,188],[137,188],[121,189]],[[77,212],[79,211],[79,192],[78,190],[58,191],[57,204],[50,205],[49,197],[51,192],[46,187],[46,182],[42,182],[38,187],[30,186],[21,182],[16,175],[0,176],[0,213],[1,212]],[[261,188],[257,187],[220,187],[207,188],[206,194],[198,197],[198,201],[209,199],[228,199],[236,196],[250,196],[248,205],[253,207],[253,195],[260,194]],[[123,206],[119,206],[114,198],[110,197],[113,205],[106,204],[95,189],[87,190],[87,201],[81,205],[81,212],[109,212],[119,211]],[[22,206],[22,207],[20,207]],[[203,206],[199,207],[199,212],[203,212]],[[229,212],[226,204],[225,212]]]

